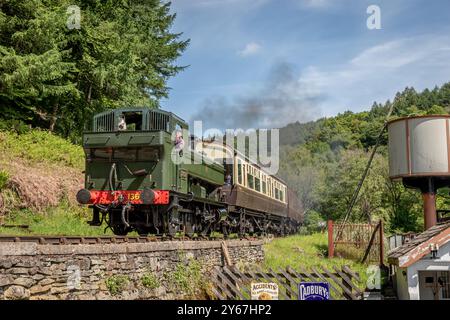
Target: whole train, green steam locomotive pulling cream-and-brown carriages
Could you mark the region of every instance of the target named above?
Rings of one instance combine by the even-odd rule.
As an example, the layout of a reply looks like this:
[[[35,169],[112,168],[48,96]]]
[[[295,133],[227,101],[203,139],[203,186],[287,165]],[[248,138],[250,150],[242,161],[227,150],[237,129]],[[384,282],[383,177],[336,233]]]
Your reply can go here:
[[[116,235],[297,230],[301,206],[281,180],[236,152],[230,165],[186,148],[182,133],[188,129],[185,121],[160,109],[123,108],[95,115],[92,130],[83,135],[85,187],[77,193],[78,202],[92,208],[89,223],[105,221]],[[254,181],[260,179],[256,171],[265,177],[264,190],[248,180],[252,174]]]

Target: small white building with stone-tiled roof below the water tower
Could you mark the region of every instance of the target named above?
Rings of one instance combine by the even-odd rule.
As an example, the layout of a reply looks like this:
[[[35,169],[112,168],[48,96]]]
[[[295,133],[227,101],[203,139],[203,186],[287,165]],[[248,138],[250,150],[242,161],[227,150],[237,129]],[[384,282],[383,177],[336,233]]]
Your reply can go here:
[[[450,300],[450,222],[389,252],[400,300]]]

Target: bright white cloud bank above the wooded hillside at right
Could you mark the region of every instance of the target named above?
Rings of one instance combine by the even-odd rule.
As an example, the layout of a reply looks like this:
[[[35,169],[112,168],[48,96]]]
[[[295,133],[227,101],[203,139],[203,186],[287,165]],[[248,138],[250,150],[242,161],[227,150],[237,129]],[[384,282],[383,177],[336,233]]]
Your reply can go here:
[[[339,66],[306,68],[300,81],[326,96],[321,109],[331,116],[366,110],[413,86],[433,88],[450,81],[450,36],[403,38],[370,47]]]

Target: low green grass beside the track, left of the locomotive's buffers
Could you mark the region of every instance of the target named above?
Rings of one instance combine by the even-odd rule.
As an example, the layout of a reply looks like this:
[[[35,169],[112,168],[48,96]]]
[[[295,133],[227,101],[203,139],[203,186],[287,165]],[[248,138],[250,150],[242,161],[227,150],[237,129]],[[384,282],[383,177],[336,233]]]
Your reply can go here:
[[[71,206],[61,203],[56,208],[48,209],[44,214],[34,213],[30,210],[15,211],[4,219],[7,225],[28,225],[24,228],[0,227],[3,235],[65,235],[65,236],[100,236],[105,225],[92,227],[87,224],[91,219],[87,208]],[[106,235],[112,235],[111,230]]]

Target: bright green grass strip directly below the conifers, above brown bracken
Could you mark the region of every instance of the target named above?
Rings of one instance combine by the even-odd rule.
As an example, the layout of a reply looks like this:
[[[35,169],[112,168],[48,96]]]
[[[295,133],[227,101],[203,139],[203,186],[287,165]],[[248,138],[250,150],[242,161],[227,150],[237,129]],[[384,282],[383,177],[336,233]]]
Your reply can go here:
[[[84,167],[83,149],[48,131],[34,129],[22,134],[0,131],[0,150],[7,158],[17,157],[78,169]]]

